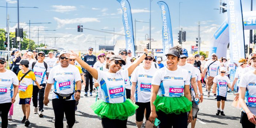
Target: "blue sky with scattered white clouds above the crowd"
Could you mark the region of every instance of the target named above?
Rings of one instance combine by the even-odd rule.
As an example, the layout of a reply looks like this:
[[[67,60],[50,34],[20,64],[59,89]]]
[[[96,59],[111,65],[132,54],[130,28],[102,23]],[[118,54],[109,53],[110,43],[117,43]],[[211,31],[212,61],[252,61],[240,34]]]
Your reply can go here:
[[[219,25],[226,19],[227,14],[219,14],[219,0],[163,0],[169,6],[173,41],[177,42],[177,33],[179,25],[179,2],[180,6],[180,27],[187,31],[187,42],[195,41],[198,34],[197,22],[201,22],[201,38],[203,41],[210,41],[213,33]],[[227,0],[222,0],[227,1]],[[151,36],[154,40],[162,39],[161,10],[157,4],[158,0],[151,2]],[[17,6],[15,0],[1,0],[0,6]],[[150,18],[150,0],[129,0],[132,9],[133,21],[149,21]],[[250,1],[242,0],[243,11],[250,10]],[[256,2],[253,3],[256,7]],[[93,43],[87,41],[97,41],[97,45],[104,44],[103,38],[106,36],[106,44],[113,44],[113,34],[100,33],[97,31],[84,30],[83,33],[77,32],[77,25],[80,23],[83,27],[90,29],[109,29],[115,28],[116,33],[124,34],[121,5],[116,0],[19,0],[20,7],[38,7],[38,8],[20,8],[20,22],[51,22],[50,24],[34,24],[31,30],[56,30],[39,31],[39,37],[64,37],[56,38],[57,46],[72,49],[86,49]],[[6,28],[6,8],[0,8],[2,18],[0,28]],[[11,22],[17,22],[17,8],[8,8]],[[133,23],[134,25],[134,23]],[[20,24],[23,29],[29,29],[28,24]],[[148,23],[136,22],[136,40],[144,40],[145,34],[149,31]],[[10,23],[10,30],[14,31],[16,23]],[[26,30],[28,31],[28,30]],[[109,31],[111,32],[111,31]],[[247,33],[247,31],[246,31]],[[31,37],[37,37],[37,31],[31,31]],[[37,38],[31,38],[37,43]],[[123,36],[115,36],[115,40],[124,40]],[[39,38],[39,43],[44,42]],[[54,39],[46,38],[46,44],[53,46]],[[69,47],[68,47],[69,46]],[[85,48],[86,46],[86,48]]]

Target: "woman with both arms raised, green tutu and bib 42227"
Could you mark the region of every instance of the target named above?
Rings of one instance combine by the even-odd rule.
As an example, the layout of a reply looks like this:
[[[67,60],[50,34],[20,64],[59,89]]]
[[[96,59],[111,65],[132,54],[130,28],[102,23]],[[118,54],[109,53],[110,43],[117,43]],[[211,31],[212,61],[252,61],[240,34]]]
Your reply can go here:
[[[146,58],[147,53],[148,51],[145,48],[144,54],[124,70],[120,70],[126,64],[122,57],[112,55],[107,63],[109,65],[108,72],[90,67],[74,52],[66,54],[66,57],[75,59],[84,69],[89,71],[99,83],[101,99],[97,100],[91,108],[95,114],[101,117],[103,128],[126,128],[127,118],[132,116],[139,107],[126,98],[124,80],[128,79],[133,70]]]

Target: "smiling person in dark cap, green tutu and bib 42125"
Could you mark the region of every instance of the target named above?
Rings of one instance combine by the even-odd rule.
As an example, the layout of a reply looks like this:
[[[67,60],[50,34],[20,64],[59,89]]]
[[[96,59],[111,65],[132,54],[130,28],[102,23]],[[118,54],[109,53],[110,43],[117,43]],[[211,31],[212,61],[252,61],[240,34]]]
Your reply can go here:
[[[180,46],[171,48],[165,55],[166,67],[153,76],[149,121],[154,123],[157,118],[161,121],[159,128],[187,128],[192,120],[190,76],[187,70],[177,67],[181,54]]]

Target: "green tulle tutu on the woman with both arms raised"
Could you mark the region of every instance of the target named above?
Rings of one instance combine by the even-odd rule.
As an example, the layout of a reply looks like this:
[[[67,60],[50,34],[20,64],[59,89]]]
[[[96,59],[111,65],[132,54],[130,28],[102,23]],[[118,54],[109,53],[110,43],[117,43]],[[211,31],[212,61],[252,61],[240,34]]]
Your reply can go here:
[[[131,99],[126,99],[123,103],[106,103],[99,99],[91,105],[91,109],[93,109],[94,113],[99,117],[119,120],[126,120],[128,117],[132,116],[138,108],[139,106],[133,103]]]

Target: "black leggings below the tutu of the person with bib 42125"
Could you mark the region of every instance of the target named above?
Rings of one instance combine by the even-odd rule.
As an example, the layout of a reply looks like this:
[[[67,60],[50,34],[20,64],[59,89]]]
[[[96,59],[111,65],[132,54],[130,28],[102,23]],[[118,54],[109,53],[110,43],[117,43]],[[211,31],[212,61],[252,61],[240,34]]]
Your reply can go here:
[[[187,128],[188,115],[187,112],[180,114],[165,114],[163,111],[157,111],[157,118],[161,123],[159,128]]]

